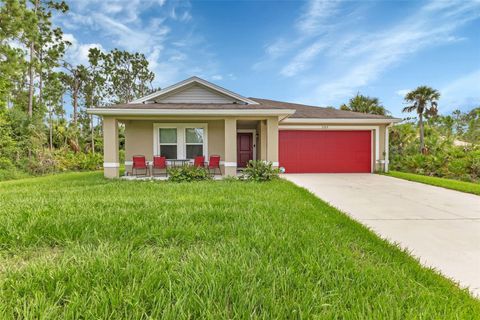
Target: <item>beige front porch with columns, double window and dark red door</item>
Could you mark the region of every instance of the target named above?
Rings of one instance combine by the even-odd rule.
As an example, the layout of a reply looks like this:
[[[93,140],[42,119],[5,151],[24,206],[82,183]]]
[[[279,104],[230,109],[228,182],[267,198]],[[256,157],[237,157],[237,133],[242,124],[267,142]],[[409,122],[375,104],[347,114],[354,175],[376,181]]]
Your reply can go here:
[[[278,116],[104,117],[104,175],[119,177],[119,123],[125,126],[125,172],[131,172],[134,155],[144,155],[150,169],[153,156],[165,156],[172,165],[168,159],[203,155],[208,161],[219,155],[222,175],[236,176],[249,160],[270,161],[278,167],[278,122]]]

